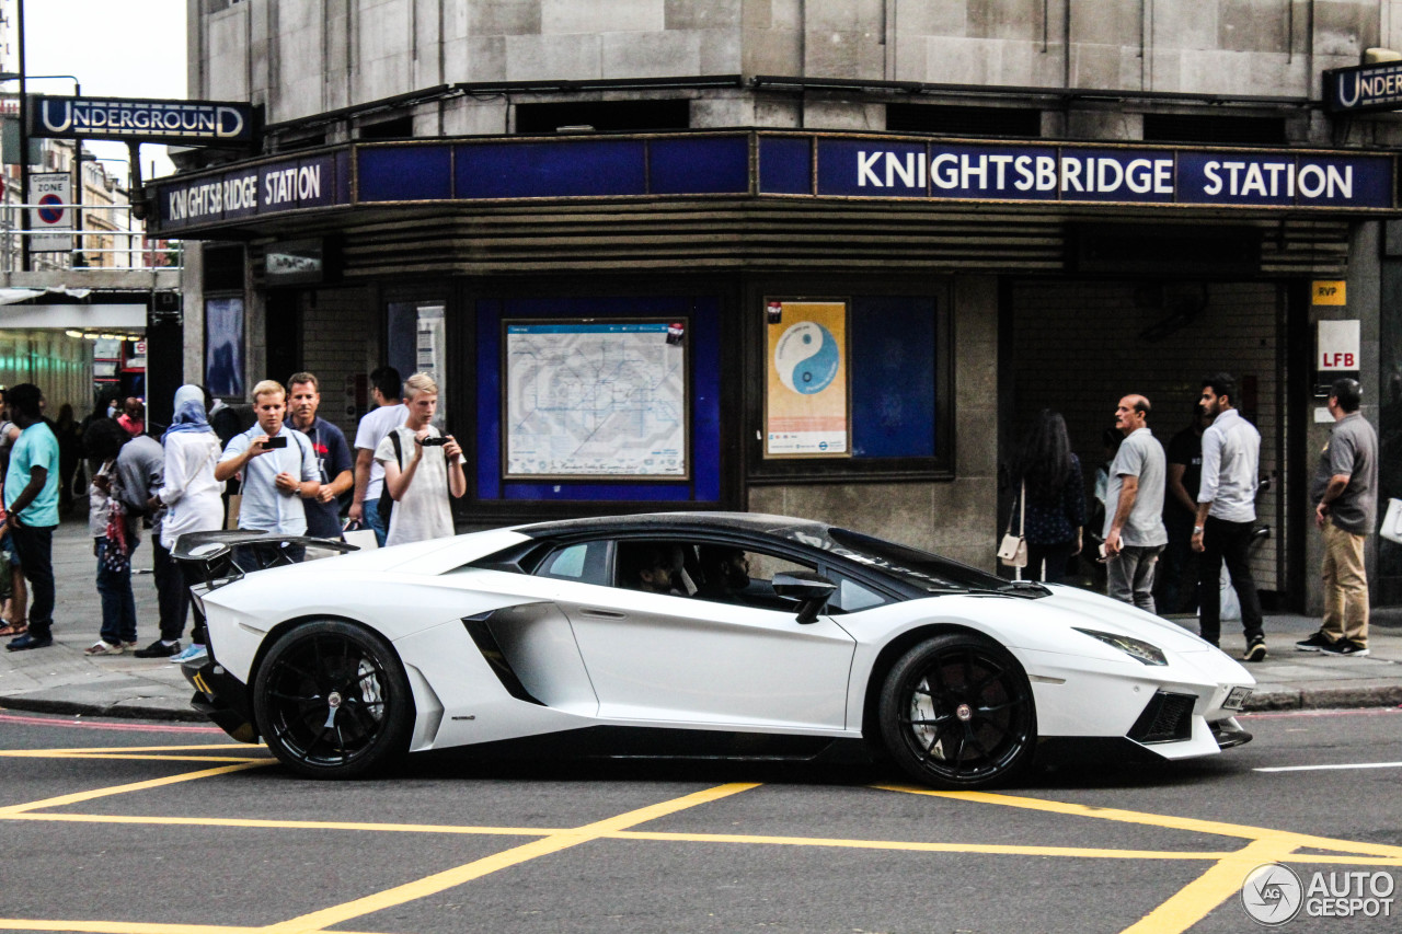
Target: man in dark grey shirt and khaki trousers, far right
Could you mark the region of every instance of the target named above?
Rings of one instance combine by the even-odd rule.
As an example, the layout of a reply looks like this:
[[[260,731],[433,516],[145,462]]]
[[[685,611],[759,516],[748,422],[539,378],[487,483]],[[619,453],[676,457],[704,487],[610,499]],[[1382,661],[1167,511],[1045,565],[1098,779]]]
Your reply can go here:
[[[1378,435],[1359,412],[1363,388],[1339,379],[1329,388],[1333,428],[1319,452],[1309,496],[1323,532],[1323,624],[1295,642],[1304,652],[1368,654],[1368,574],[1363,544],[1378,519]]]

